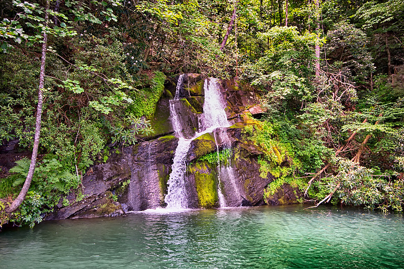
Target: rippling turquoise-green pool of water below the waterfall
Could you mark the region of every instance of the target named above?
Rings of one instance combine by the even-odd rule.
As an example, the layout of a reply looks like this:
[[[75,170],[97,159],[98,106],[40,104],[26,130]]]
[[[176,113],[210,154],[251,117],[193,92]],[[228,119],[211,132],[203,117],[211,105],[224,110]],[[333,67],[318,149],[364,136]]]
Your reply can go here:
[[[0,268],[403,268],[404,218],[304,206],[130,214],[0,233]]]

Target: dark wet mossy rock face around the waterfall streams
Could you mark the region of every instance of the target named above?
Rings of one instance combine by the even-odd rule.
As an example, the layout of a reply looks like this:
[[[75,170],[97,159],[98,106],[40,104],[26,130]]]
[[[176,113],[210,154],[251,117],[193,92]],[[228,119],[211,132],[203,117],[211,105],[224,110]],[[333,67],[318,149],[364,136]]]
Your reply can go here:
[[[82,193],[65,197],[71,205],[64,207],[60,203],[46,219],[116,216],[128,211],[165,207],[167,182],[179,141],[173,135],[170,102],[185,122],[183,133],[192,137],[200,129],[204,83],[199,74],[187,74],[180,88],[180,100],[170,101],[176,87],[175,83],[167,82],[165,93],[151,118],[154,139],[112,150],[107,163],[92,166],[83,176]],[[282,186],[264,200],[264,190],[274,176],[268,173],[262,177],[258,159],[263,151],[243,131],[246,126],[257,124],[244,117],[244,113],[260,115],[264,112],[259,106],[260,95],[234,79],[222,81],[219,88],[226,98],[227,118],[233,125],[217,128],[191,142],[185,172],[188,207],[219,207],[220,197],[227,207],[296,203],[299,196],[290,185]],[[225,161],[207,158],[224,153],[227,154]]]

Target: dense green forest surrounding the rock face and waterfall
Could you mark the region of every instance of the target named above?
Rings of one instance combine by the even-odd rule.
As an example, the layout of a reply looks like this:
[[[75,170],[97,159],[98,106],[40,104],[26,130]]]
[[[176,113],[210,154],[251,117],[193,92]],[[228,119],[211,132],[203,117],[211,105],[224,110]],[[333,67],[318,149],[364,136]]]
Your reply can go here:
[[[314,206],[403,210],[403,0],[0,8],[0,145],[15,142],[27,156],[0,170],[2,223],[41,222],[72,189],[80,194],[91,165],[153,135],[165,83],[184,73],[262,93],[261,129],[245,131],[292,160],[269,190],[294,182]],[[274,158],[263,156],[260,169]]]

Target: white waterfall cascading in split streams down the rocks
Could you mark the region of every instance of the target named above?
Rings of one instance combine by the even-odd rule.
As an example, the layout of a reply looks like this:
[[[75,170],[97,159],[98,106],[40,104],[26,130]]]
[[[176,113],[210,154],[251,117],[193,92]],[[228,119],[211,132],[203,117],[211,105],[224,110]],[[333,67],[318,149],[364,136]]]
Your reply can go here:
[[[224,111],[224,108],[226,107],[226,105],[224,104],[224,102],[220,96],[218,80],[214,79],[214,78],[210,78],[209,80],[206,79],[205,83],[204,83],[205,102],[204,102],[204,113],[202,115],[202,120],[201,120],[202,124],[201,124],[201,126],[199,126],[199,132],[197,132],[192,138],[190,138],[190,139],[184,138],[184,134],[182,133],[182,130],[183,130],[182,121],[181,121],[180,115],[178,115],[176,108],[175,108],[175,103],[178,102],[178,100],[180,100],[180,90],[182,87],[183,79],[184,79],[184,75],[181,75],[178,79],[178,84],[177,84],[174,100],[170,100],[171,121],[173,124],[174,132],[175,132],[176,136],[179,138],[179,141],[178,141],[177,149],[175,150],[175,154],[174,154],[174,163],[172,165],[172,172],[170,174],[170,179],[167,182],[168,191],[167,191],[167,195],[165,197],[165,202],[167,203],[167,209],[169,209],[169,210],[181,210],[181,209],[186,209],[188,207],[187,206],[188,205],[187,195],[186,195],[186,190],[185,190],[184,174],[186,171],[186,157],[187,157],[187,153],[189,151],[191,142],[195,138],[197,138],[207,132],[214,131],[214,129],[216,129],[216,128],[230,126],[230,123],[227,120],[226,112]],[[230,140],[227,136],[226,131],[223,130],[220,133],[225,133],[225,137],[227,137],[227,141],[230,143]],[[219,135],[221,135],[221,134],[219,134]],[[215,137],[216,148],[217,148],[217,153],[218,153],[219,203],[220,203],[220,207],[226,207],[226,201],[225,201],[224,195],[222,193],[222,190],[220,189],[221,165],[220,165],[220,161],[219,161],[219,146],[218,146],[218,142],[216,139],[216,135],[214,135],[214,137]],[[226,144],[226,148],[228,146],[227,144]],[[230,143],[229,147],[231,148],[231,143]],[[237,188],[235,187],[234,173],[232,172],[231,169],[229,170],[227,166],[226,166],[225,170],[227,171],[226,173],[229,174],[229,178],[233,178],[232,181],[234,181],[234,189],[237,190]],[[230,173],[232,174],[232,176],[230,176]],[[237,192],[238,192],[238,190],[237,190]]]

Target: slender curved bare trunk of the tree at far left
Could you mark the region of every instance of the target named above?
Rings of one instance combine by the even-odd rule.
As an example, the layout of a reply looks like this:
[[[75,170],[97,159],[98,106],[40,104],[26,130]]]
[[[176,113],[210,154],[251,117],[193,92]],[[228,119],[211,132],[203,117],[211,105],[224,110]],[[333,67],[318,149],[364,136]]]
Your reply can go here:
[[[49,0],[46,1],[46,10],[49,9]],[[47,26],[48,13],[45,12],[45,27]],[[34,147],[32,149],[31,164],[29,166],[27,178],[25,179],[24,186],[22,187],[20,194],[13,201],[10,207],[6,208],[6,212],[14,212],[22,204],[27,195],[29,186],[31,185],[32,177],[35,171],[36,156],[38,154],[39,147],[39,134],[41,130],[41,116],[42,116],[42,102],[43,102],[43,82],[45,79],[45,59],[46,59],[46,44],[47,44],[47,34],[46,30],[43,29],[43,43],[42,43],[42,58],[41,58],[41,69],[39,75],[39,91],[38,91],[38,106],[36,110],[36,123],[35,123],[35,137],[34,137]]]

